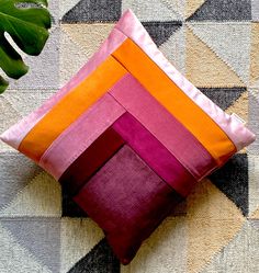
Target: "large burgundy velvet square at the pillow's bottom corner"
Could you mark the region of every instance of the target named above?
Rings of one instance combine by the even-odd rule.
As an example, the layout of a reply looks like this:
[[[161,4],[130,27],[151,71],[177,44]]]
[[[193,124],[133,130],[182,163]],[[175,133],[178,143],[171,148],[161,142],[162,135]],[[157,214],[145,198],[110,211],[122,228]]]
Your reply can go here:
[[[114,253],[127,264],[182,197],[125,145],[74,200],[103,229]]]

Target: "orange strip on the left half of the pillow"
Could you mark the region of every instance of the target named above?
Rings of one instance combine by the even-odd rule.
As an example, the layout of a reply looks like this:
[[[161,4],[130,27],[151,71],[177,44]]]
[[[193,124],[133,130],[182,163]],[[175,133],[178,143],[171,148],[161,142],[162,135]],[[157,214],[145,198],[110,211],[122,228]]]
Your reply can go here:
[[[48,146],[127,71],[112,56],[65,95],[24,137],[19,150],[40,161]]]

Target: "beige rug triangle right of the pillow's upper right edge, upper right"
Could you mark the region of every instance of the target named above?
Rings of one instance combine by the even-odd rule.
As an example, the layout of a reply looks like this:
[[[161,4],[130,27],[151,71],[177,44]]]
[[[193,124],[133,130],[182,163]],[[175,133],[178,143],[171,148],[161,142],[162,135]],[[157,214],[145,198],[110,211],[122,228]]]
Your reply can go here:
[[[187,27],[187,78],[200,87],[244,86],[238,76]]]

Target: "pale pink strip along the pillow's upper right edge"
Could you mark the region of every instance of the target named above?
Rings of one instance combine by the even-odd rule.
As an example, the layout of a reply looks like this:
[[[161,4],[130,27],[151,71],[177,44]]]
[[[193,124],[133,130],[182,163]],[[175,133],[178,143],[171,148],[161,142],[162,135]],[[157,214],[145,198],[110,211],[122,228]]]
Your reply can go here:
[[[256,139],[256,136],[243,123],[226,114],[167,60],[131,10],[124,13],[115,27],[142,47],[165,73],[217,123],[232,139],[237,150],[243,149]]]

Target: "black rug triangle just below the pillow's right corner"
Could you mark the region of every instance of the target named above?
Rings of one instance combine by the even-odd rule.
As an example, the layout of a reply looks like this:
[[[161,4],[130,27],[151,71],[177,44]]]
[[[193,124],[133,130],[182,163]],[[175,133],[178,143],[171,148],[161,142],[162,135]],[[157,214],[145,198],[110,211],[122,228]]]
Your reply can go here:
[[[210,180],[232,200],[245,216],[248,215],[248,158],[246,153],[234,155]]]

